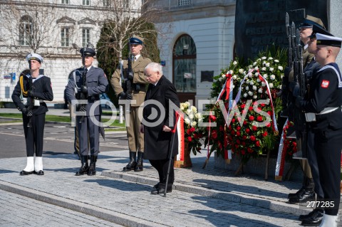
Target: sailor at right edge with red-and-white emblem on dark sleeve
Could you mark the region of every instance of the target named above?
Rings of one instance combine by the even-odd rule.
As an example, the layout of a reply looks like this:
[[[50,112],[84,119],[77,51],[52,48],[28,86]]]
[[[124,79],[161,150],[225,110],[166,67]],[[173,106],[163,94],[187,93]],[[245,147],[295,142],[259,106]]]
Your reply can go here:
[[[342,149],[342,76],[335,63],[342,38],[316,33],[316,61],[321,65],[311,79],[309,97],[296,97],[296,106],[305,112],[314,132],[323,199],[317,208],[324,210],[323,227],[337,226],[340,203]]]

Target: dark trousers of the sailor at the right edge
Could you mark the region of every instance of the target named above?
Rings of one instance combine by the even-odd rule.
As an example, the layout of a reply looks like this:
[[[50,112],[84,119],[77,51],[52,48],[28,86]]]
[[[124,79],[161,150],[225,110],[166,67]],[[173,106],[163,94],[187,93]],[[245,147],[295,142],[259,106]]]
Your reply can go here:
[[[342,130],[319,130],[315,132],[316,157],[324,201],[334,208],[325,209],[328,215],[336,216],[340,204]]]

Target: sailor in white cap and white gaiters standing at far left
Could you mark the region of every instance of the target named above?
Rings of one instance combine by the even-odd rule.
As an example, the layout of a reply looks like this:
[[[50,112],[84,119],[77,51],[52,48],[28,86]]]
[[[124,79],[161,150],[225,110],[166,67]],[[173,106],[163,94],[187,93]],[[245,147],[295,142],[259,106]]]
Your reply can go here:
[[[44,175],[43,172],[43,135],[45,115],[48,107],[43,100],[52,101],[53,92],[51,80],[45,75],[39,75],[43,58],[30,53],[26,57],[30,73],[21,75],[12,94],[12,100],[18,110],[23,113],[23,125],[26,141],[27,164],[21,176],[28,174]],[[21,94],[27,97],[27,102],[21,102]],[[36,157],[33,158],[34,154]]]

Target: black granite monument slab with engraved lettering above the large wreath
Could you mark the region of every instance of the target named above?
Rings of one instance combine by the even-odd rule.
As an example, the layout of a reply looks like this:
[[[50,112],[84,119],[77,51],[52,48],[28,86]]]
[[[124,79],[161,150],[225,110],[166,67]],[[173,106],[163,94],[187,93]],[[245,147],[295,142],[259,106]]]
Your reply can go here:
[[[255,58],[273,43],[287,47],[285,15],[296,27],[306,15],[320,18],[327,28],[327,3],[321,0],[237,0],[235,46],[239,58]]]

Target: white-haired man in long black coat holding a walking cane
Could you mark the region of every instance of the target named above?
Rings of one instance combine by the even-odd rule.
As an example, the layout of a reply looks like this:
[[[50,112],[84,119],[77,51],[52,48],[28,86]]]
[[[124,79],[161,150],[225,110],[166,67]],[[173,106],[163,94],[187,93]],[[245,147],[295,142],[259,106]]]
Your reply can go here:
[[[159,174],[159,183],[155,185],[151,194],[164,194],[166,184],[167,192],[171,192],[175,181],[173,157],[178,154],[178,141],[174,139],[171,150],[171,130],[175,127],[175,109],[179,109],[180,100],[175,86],[162,75],[162,65],[148,64],[145,67],[145,75],[150,85],[147,88],[142,125],[140,125],[140,132],[145,133],[144,159],[148,159]],[[170,152],[172,152],[171,160]],[[166,182],[169,162],[171,162],[170,176]]]

